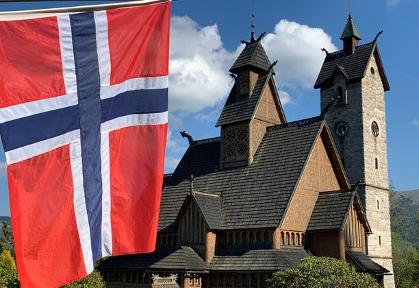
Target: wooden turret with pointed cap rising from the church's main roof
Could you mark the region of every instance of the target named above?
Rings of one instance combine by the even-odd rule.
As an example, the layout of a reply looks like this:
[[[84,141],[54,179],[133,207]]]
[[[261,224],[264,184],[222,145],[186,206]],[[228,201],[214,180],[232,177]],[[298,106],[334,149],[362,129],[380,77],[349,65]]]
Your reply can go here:
[[[251,165],[266,128],[285,123],[273,79],[275,72],[261,40],[252,32],[230,69],[231,88],[216,127],[221,127],[220,168]]]

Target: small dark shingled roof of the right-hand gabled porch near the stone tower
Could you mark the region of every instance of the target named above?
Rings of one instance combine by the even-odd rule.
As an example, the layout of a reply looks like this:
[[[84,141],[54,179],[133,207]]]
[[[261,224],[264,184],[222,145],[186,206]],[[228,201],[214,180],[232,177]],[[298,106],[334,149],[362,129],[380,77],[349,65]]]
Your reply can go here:
[[[307,226],[307,232],[342,229],[355,193],[354,190],[320,193]]]

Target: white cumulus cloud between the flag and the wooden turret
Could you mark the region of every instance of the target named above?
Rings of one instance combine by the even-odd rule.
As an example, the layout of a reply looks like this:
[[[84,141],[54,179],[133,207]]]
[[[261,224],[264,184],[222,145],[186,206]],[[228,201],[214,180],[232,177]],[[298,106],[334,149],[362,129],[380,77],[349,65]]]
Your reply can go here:
[[[169,108],[199,112],[225,99],[233,85],[229,67],[238,51],[227,51],[216,24],[200,27],[173,16],[170,27]]]

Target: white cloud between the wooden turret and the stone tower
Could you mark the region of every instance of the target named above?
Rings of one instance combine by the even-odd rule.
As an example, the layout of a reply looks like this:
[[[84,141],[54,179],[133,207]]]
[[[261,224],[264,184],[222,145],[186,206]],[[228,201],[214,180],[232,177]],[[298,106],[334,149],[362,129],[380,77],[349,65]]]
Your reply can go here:
[[[270,61],[278,60],[275,67],[277,85],[288,88],[313,88],[325,53],[338,48],[323,29],[309,27],[282,19],[273,33],[262,39]]]

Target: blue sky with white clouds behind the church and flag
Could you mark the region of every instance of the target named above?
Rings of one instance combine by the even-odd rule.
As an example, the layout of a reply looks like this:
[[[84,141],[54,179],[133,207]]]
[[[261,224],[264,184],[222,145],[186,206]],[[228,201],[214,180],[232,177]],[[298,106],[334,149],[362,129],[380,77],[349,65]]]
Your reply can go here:
[[[85,5],[106,1],[0,3],[0,11]],[[232,82],[228,69],[251,32],[251,0],[180,0],[172,5],[170,36],[169,137],[166,172],[173,171],[188,141],[219,136],[214,127]],[[390,82],[385,94],[389,179],[396,189],[419,189],[419,1],[353,0],[351,12],[370,42],[378,45]],[[320,113],[312,86],[324,53],[342,48],[348,16],[346,0],[255,0],[255,32],[266,32],[264,47],[275,67],[276,83],[288,121]],[[0,152],[0,215],[10,215],[4,152]]]

